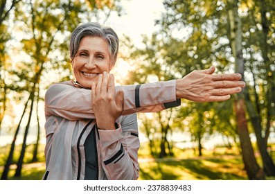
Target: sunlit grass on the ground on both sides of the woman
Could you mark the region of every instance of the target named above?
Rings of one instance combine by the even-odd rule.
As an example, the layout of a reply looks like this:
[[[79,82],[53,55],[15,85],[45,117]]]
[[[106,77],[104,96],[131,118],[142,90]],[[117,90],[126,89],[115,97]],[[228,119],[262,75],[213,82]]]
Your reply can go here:
[[[145,159],[140,161],[139,180],[243,180],[247,179],[240,157],[204,157],[203,159]],[[44,162],[25,164],[21,177],[13,177],[15,165],[11,166],[9,179],[42,179]],[[2,168],[1,172],[2,172]],[[1,175],[1,173],[0,173]]]

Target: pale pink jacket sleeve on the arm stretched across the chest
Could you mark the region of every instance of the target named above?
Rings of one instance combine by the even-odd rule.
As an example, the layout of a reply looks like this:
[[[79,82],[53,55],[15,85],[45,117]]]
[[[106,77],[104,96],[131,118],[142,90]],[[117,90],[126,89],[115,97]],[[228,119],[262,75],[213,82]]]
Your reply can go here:
[[[145,85],[117,86],[122,90],[122,115],[135,112],[159,112],[181,104],[176,99],[176,81],[155,82]],[[91,107],[91,90],[58,83],[48,88],[45,95],[46,116],[55,115],[71,121],[95,118]]]

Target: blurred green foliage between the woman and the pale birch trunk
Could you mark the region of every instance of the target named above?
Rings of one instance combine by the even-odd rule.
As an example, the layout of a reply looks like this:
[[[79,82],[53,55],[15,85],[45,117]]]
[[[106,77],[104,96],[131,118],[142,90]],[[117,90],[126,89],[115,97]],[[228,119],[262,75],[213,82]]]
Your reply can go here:
[[[230,47],[228,41],[224,43],[219,37],[220,28],[223,29],[222,24],[227,26],[227,12],[224,9],[215,10],[215,3],[217,1],[164,1],[167,12],[157,21],[161,31],[151,37],[145,36],[144,47],[132,51],[131,59],[134,58],[133,65],[136,69],[130,72],[127,83],[150,82],[151,78],[154,78],[154,81],[172,80],[193,70],[206,69],[213,64],[218,66],[218,69],[227,67],[232,60]],[[218,17],[224,18],[222,24],[218,22]],[[232,101],[220,105],[197,104],[185,100],[182,102],[181,109],[171,110],[170,130],[189,130],[193,141],[199,145],[203,139],[209,138],[213,131],[226,133],[236,139],[236,124],[232,122],[235,120]],[[225,106],[229,112],[220,112]],[[141,125],[142,130],[150,127],[145,130],[154,130],[154,134],[160,133],[157,123],[165,125],[170,118],[167,112],[165,114],[162,119],[154,114],[154,124]],[[153,141],[159,141],[157,138],[152,139],[152,144],[158,145]]]

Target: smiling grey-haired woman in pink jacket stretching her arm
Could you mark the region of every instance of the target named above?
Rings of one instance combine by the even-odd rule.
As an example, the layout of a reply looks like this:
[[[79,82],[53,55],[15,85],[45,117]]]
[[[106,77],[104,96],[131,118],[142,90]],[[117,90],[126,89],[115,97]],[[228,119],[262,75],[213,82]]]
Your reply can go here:
[[[227,100],[241,91],[239,74],[193,71],[180,80],[114,86],[118,36],[112,28],[83,24],[71,35],[75,80],[52,85],[45,95],[44,179],[138,179],[136,112]]]

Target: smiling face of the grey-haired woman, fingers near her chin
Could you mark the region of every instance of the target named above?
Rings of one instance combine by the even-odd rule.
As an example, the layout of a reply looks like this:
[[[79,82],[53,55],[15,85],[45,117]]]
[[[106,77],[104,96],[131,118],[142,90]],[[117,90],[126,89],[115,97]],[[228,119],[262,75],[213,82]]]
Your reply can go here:
[[[72,61],[73,74],[83,87],[91,88],[97,82],[98,75],[112,69],[109,44],[101,37],[83,37],[78,52]]]

